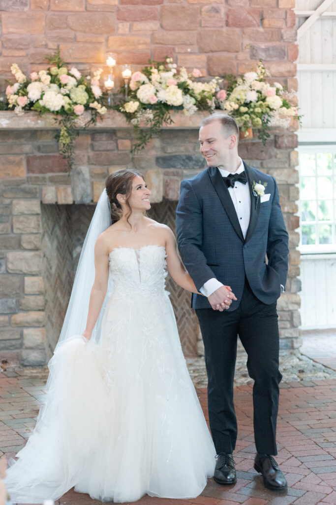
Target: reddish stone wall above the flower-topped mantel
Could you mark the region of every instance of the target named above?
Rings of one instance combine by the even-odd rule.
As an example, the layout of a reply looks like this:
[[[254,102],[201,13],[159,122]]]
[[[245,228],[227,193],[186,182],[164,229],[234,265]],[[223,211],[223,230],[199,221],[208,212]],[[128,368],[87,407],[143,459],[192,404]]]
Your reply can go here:
[[[295,87],[295,0],[0,0],[2,88],[17,62],[24,72],[45,68],[60,45],[82,70],[105,63],[143,66],[166,55],[203,75],[238,74],[259,58]],[[136,67],[135,67],[136,68]],[[118,69],[116,69],[116,72]]]

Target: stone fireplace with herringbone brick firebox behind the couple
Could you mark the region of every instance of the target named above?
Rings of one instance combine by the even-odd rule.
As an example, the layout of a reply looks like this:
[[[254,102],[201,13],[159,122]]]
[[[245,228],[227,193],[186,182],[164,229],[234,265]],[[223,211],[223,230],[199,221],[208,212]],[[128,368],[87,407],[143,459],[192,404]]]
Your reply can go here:
[[[68,305],[81,246],[95,203],[109,173],[136,168],[152,190],[151,217],[174,229],[179,185],[205,168],[197,129],[204,116],[174,115],[173,125],[135,156],[132,130],[110,111],[76,140],[74,167],[58,154],[50,116],[0,113],[0,351],[24,365],[44,365],[51,355]],[[240,141],[239,154],[277,179],[290,235],[287,292],[279,300],[281,348],[300,345],[297,137],[273,131],[263,147],[257,138]],[[190,295],[168,278],[185,356],[201,352]]]

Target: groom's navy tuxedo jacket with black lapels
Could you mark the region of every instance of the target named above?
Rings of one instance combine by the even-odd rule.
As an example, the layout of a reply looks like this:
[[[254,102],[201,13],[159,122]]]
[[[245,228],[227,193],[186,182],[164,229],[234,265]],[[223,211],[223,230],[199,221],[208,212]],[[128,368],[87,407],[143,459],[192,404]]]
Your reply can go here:
[[[237,309],[245,276],[255,296],[272,304],[286,285],[288,233],[274,177],[244,163],[251,197],[250,222],[244,240],[229,190],[217,167],[181,182],[176,210],[177,242],[182,261],[197,289],[215,277],[231,286]],[[252,193],[252,183],[267,183],[268,201]],[[267,263],[265,256],[267,255]],[[192,295],[194,309],[210,308],[208,298]]]

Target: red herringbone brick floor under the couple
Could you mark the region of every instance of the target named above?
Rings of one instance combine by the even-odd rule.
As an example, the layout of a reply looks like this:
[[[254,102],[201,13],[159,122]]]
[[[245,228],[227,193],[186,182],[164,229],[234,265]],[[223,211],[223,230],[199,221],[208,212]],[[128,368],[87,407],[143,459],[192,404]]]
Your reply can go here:
[[[43,370],[0,373],[0,456],[14,457],[34,428],[46,380]],[[201,496],[169,500],[144,496],[139,505],[336,505],[336,379],[281,385],[277,461],[288,490],[265,489],[253,470],[252,386],[235,388],[238,441],[237,483],[220,486],[209,479]],[[206,413],[206,389],[197,389]],[[207,417],[207,416],[206,416]],[[56,505],[98,505],[88,495],[66,493]]]

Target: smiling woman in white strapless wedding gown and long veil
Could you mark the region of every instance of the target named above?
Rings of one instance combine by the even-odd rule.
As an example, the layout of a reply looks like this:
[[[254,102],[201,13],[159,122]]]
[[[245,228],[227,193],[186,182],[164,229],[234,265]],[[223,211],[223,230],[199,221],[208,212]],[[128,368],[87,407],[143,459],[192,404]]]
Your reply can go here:
[[[73,486],[101,501],[190,498],[213,476],[215,449],[183,358],[166,267],[177,284],[196,287],[170,228],[145,215],[150,194],[132,170],[106,181],[44,406],[8,471],[13,502],[58,499]]]

